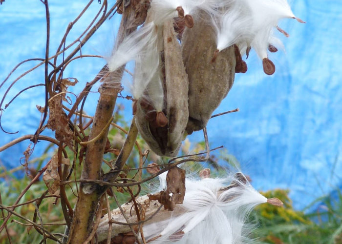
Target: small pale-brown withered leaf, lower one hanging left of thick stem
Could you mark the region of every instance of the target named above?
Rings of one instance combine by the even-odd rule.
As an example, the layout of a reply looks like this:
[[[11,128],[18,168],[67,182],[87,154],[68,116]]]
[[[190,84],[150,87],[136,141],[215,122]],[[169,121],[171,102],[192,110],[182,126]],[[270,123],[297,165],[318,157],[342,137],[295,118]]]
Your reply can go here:
[[[56,193],[59,189],[60,179],[58,174],[58,156],[54,154],[43,174],[43,181],[51,194]]]

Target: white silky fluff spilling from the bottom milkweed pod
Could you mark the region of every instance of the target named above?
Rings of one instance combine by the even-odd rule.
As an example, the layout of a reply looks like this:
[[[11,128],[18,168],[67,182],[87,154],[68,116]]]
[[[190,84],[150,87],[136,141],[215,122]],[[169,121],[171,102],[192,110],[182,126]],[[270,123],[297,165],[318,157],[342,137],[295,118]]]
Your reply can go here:
[[[168,220],[144,226],[155,244],[240,244],[247,240],[245,218],[267,199],[246,178],[186,179],[186,193],[178,211]],[[244,177],[242,175],[242,177]],[[161,177],[162,185],[165,177]],[[227,186],[231,183],[230,186]],[[247,231],[248,232],[248,231]]]

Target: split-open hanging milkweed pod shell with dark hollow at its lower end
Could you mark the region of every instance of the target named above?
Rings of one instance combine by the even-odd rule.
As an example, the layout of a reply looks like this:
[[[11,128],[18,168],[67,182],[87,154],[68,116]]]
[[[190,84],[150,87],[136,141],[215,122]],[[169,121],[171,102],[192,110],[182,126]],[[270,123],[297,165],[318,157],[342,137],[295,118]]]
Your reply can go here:
[[[173,29],[173,20],[169,20],[163,27],[164,64],[163,79],[164,102],[159,117],[166,116],[167,124],[158,124],[146,118],[147,110],[137,102],[135,121],[143,139],[149,144],[151,150],[161,156],[176,156],[188,122],[188,76],[182,61],[180,45]],[[163,119],[165,119],[163,118]]]

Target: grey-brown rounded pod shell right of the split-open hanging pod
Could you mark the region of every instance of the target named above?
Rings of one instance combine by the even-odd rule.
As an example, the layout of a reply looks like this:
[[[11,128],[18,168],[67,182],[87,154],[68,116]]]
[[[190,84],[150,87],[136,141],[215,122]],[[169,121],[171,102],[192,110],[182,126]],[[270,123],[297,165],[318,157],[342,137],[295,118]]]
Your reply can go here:
[[[212,17],[202,10],[192,15],[193,27],[185,28],[181,45],[189,77],[188,134],[203,129],[231,89],[235,77],[235,52],[230,46],[217,53]]]

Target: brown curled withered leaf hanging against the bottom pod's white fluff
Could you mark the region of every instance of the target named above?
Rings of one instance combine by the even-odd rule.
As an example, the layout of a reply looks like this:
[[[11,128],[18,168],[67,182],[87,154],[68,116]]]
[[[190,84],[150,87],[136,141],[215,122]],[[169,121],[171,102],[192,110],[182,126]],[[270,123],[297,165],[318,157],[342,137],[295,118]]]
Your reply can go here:
[[[150,195],[150,200],[157,200],[164,205],[164,209],[172,211],[176,204],[182,204],[185,196],[185,170],[172,167],[166,176],[167,187],[165,191],[160,191]]]

